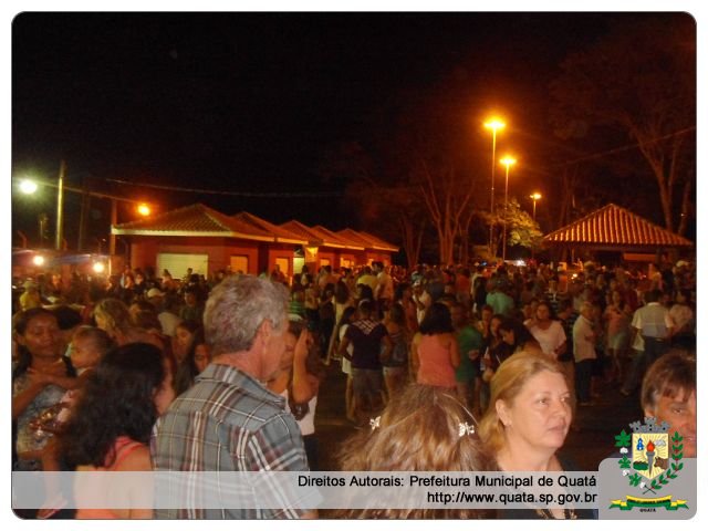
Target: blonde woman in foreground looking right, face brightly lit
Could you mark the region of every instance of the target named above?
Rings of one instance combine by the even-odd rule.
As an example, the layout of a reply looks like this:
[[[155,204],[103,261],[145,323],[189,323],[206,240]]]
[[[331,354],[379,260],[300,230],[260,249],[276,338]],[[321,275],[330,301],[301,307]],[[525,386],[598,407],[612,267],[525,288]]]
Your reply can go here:
[[[573,470],[556,452],[571,426],[570,391],[561,365],[543,353],[518,352],[503,362],[490,383],[489,409],[479,436],[499,470]],[[502,518],[593,518],[590,510],[502,511]]]

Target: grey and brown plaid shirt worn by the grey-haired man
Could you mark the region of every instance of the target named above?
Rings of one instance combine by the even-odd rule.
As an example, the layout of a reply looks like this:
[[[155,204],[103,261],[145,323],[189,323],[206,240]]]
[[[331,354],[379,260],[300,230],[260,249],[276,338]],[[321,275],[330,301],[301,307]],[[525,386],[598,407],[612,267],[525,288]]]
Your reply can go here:
[[[211,364],[155,424],[150,439],[153,467],[156,471],[306,471],[300,429],[284,406],[281,396],[246,373]],[[275,482],[271,487],[280,489]],[[254,491],[244,496],[254,498]],[[155,518],[298,518],[303,512],[163,509],[155,511]]]

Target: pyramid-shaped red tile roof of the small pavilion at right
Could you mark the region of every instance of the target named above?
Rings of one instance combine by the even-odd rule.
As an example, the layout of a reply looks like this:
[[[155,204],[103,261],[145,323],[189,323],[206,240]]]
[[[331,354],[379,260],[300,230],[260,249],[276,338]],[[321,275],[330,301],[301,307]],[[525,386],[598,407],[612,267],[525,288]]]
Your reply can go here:
[[[610,204],[543,238],[550,244],[584,244],[597,248],[690,247],[694,243]]]

